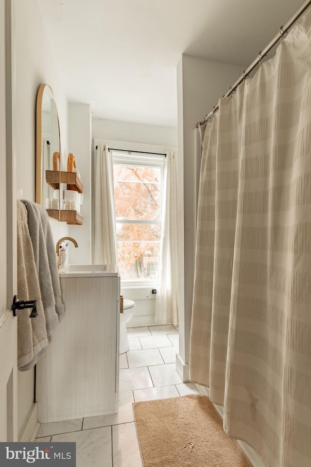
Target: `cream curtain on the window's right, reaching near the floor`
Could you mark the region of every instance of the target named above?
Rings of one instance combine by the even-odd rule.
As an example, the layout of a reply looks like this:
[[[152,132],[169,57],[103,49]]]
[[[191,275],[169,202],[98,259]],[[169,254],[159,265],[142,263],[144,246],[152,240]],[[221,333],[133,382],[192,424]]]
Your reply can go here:
[[[164,159],[164,189],[159,279],[155,297],[155,323],[178,324],[177,168],[175,154]]]

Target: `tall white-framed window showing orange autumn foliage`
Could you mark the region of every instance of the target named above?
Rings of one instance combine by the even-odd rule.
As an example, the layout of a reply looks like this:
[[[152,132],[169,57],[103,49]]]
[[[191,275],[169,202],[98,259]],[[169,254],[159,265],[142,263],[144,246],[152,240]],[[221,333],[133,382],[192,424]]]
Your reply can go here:
[[[163,156],[112,150],[117,248],[121,280],[157,282]],[[133,284],[133,285],[134,285]]]

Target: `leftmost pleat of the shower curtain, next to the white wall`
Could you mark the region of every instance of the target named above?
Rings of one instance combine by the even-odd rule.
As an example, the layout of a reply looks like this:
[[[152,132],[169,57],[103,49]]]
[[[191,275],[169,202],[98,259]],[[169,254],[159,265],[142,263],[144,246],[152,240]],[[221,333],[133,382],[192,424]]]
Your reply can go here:
[[[190,380],[209,387],[212,284],[215,237],[215,169],[218,114],[200,127],[203,136],[200,169],[196,261],[190,335]],[[208,212],[211,214],[208,216]]]

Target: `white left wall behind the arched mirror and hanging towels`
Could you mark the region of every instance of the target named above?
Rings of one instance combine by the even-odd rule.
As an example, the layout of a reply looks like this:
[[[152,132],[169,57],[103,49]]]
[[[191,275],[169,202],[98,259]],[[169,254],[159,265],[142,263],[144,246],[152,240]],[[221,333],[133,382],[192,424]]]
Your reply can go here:
[[[67,152],[68,104],[62,91],[52,48],[37,0],[15,1],[16,36],[16,150],[17,189],[35,200],[35,106],[39,85],[51,86],[58,108],[61,153]],[[67,233],[67,225],[52,221],[54,238]],[[18,372],[18,431],[34,402],[34,370]]]

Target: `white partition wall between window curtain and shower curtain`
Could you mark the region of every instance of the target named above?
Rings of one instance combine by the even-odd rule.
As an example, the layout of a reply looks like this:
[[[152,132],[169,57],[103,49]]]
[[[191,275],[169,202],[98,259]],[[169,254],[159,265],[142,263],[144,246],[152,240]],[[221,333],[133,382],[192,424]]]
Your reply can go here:
[[[177,66],[179,155],[179,357],[176,367],[188,377],[191,308],[195,264],[196,206],[200,160],[195,157],[195,125],[242,74],[244,68],[182,55]]]

